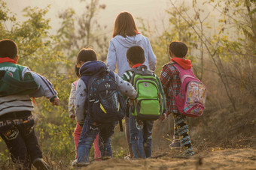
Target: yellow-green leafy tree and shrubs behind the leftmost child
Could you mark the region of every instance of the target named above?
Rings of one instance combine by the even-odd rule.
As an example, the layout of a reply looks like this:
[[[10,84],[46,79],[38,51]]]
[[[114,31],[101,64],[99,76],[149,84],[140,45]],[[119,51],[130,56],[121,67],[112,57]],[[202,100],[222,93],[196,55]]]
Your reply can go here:
[[[45,9],[26,7],[23,10],[26,21],[17,22],[15,14],[10,12],[6,3],[0,0],[0,4],[2,4],[0,7],[0,39],[14,40],[19,48],[18,63],[46,76],[59,92],[61,107],[53,107],[47,99],[42,98],[36,100],[37,107],[33,112],[36,120],[35,131],[38,134],[42,151],[50,154],[48,159],[54,160],[54,157],[58,157],[57,160],[59,160],[60,155],[69,155],[74,148],[71,141],[73,141],[72,130],[75,127],[75,121],[68,117],[67,103],[70,82],[75,80],[75,76],[66,72],[66,68],[69,68],[72,62],[56,48],[59,39],[49,33],[50,19],[45,19],[49,7]],[[10,23],[11,28],[6,26],[7,22]],[[5,164],[5,162],[0,162]]]

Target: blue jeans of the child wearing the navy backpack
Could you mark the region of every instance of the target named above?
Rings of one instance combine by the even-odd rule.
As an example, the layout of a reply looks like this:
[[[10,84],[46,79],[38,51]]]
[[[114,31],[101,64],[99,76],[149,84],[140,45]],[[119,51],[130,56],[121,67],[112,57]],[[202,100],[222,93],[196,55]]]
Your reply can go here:
[[[78,163],[89,162],[90,148],[99,133],[99,151],[102,157],[112,157],[111,136],[114,134],[114,127],[117,122],[110,124],[93,125],[93,121],[87,118],[82,128],[78,142]]]

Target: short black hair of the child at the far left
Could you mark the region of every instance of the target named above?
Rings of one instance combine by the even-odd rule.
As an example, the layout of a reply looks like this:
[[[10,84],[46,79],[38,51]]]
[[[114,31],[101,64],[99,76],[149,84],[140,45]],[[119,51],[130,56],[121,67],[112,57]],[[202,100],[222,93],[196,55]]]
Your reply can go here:
[[[18,46],[13,40],[0,40],[0,58],[14,59],[18,54]]]

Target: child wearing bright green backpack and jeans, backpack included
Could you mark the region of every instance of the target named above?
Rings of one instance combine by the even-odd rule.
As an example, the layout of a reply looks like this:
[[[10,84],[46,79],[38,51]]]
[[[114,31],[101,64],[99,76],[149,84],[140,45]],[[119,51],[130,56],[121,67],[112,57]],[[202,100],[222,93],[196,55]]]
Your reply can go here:
[[[130,100],[130,143],[134,158],[151,157],[152,128],[154,121],[166,119],[166,103],[160,79],[147,66],[145,52],[141,46],[132,46],[126,52],[132,70],[123,74],[138,95]]]

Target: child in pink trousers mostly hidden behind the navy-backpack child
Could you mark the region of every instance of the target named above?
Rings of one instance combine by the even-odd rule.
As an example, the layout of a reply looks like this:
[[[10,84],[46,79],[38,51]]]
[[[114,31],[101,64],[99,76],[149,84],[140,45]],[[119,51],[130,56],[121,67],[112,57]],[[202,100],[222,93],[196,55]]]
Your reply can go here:
[[[75,66],[75,73],[78,77],[79,75],[79,67]],[[78,80],[75,82],[72,82],[71,85],[71,91],[69,95],[69,118],[72,118],[75,120],[75,91],[78,84]],[[82,132],[82,127],[78,124],[76,124],[75,130],[74,130],[74,142],[75,142],[75,160],[72,163],[72,166],[75,165],[75,163],[78,162],[78,141],[80,139]],[[100,160],[100,151],[99,151],[99,134],[96,136],[96,139],[94,140],[94,160]]]

